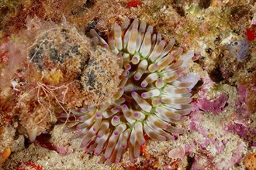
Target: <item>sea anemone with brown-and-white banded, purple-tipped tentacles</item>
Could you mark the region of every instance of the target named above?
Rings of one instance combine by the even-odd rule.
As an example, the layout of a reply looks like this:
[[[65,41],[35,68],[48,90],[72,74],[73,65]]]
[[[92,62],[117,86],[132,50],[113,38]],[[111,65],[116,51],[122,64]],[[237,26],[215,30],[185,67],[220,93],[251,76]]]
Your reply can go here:
[[[104,152],[102,161],[110,164],[119,162],[126,148],[131,162],[138,158],[145,134],[158,141],[182,134],[177,123],[192,108],[191,83],[179,80],[185,66],[178,59],[183,49],[173,50],[175,39],[166,42],[138,19],[115,23],[107,42],[95,29],[90,33],[95,44],[116,54],[123,73],[116,94],[105,104],[71,110],[69,120],[77,122],[65,130],[75,131],[71,138],[82,138],[81,148],[89,153]]]

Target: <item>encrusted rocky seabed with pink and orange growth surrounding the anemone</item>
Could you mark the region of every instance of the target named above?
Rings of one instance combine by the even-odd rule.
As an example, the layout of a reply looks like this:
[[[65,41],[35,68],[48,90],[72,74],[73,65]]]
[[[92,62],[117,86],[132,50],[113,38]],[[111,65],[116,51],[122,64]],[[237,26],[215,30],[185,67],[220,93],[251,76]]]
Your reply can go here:
[[[4,0],[0,14],[1,168],[256,168],[254,1]],[[126,18],[184,49],[178,59],[187,71],[179,80],[192,82],[192,112],[174,140],[144,135],[133,162],[124,151],[119,163],[106,165],[63,131],[76,121],[71,109],[104,104],[117,92],[116,55],[88,37],[95,29],[107,39]]]

